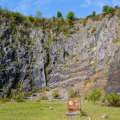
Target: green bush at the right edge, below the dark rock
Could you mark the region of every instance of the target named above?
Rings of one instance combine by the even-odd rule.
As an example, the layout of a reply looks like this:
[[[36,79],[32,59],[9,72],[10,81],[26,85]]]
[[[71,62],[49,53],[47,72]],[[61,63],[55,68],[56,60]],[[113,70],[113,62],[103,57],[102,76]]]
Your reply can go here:
[[[120,106],[120,95],[117,93],[110,93],[106,95],[106,100],[110,106]]]

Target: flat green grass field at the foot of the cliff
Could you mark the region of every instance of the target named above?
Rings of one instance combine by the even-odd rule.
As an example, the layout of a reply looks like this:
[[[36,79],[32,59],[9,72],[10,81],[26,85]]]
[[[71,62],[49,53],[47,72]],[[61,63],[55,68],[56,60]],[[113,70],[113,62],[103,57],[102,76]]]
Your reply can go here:
[[[92,120],[120,120],[120,108],[101,107],[85,102],[83,110]],[[66,111],[66,103],[60,101],[1,103],[0,120],[67,120]],[[108,118],[101,118],[104,114]],[[77,120],[88,119],[79,116]]]

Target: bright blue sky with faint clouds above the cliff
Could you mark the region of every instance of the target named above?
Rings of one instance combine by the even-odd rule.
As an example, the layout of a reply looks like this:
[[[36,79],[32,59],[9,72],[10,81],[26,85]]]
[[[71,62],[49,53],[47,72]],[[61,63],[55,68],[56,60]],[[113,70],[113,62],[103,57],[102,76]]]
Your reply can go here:
[[[85,17],[92,11],[100,13],[104,5],[120,6],[120,0],[0,0],[0,6],[24,15],[35,15],[40,10],[43,17],[52,17],[56,11],[65,16],[68,11]]]

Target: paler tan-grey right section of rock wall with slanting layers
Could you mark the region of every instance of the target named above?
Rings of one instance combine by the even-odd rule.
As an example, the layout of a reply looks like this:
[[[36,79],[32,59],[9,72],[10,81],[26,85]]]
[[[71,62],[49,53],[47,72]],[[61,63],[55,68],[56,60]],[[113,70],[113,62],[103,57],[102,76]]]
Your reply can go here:
[[[95,87],[120,91],[119,16],[107,16],[101,21],[88,20],[86,26],[76,26],[79,29],[75,34],[60,39],[56,47],[51,48],[58,60],[49,75],[49,86],[72,86],[81,91]]]

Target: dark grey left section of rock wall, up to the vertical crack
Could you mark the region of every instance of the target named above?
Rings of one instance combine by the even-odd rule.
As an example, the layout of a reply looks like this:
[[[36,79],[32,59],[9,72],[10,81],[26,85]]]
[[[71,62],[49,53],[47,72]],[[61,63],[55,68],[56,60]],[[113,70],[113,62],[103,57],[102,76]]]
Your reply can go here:
[[[46,86],[44,33],[0,19],[0,89],[5,96],[19,84],[26,92]]]

